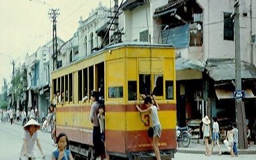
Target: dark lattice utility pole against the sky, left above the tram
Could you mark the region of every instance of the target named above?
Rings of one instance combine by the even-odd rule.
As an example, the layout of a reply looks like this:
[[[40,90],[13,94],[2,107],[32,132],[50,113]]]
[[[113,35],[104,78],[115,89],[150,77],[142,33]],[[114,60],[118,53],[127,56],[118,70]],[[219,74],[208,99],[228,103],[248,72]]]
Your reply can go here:
[[[49,18],[53,22],[52,25],[52,59],[53,59],[53,71],[55,66],[57,65],[57,31],[56,31],[56,23],[57,23],[57,15],[59,15],[59,9],[49,9],[48,12]],[[57,67],[56,67],[57,68]]]

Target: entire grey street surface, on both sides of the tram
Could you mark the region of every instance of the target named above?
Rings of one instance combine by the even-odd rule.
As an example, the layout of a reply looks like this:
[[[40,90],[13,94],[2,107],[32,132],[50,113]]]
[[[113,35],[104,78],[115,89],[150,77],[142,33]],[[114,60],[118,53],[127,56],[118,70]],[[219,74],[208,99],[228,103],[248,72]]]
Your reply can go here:
[[[0,159],[15,160],[19,158],[19,152],[21,151],[23,137],[23,128],[21,125],[10,123],[0,123]],[[39,131],[39,137],[41,141],[41,146],[43,148],[43,153],[45,154],[45,159],[51,159],[51,153],[54,151],[53,142],[51,140],[49,133],[43,133]],[[38,148],[35,146],[38,151]],[[239,155],[239,157],[231,157],[230,155],[211,155],[210,157],[203,154],[188,154],[188,153],[176,153],[174,155],[174,160],[198,160],[198,159],[255,159],[256,155]]]

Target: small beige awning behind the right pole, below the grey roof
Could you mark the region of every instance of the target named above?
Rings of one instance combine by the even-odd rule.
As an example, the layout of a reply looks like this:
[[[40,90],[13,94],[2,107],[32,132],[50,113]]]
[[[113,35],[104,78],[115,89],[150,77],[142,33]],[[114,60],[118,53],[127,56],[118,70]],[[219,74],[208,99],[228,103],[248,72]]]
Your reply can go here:
[[[244,89],[245,98],[256,98],[251,89]],[[215,93],[218,99],[233,99],[234,91],[230,89],[223,89],[222,87],[215,88]]]

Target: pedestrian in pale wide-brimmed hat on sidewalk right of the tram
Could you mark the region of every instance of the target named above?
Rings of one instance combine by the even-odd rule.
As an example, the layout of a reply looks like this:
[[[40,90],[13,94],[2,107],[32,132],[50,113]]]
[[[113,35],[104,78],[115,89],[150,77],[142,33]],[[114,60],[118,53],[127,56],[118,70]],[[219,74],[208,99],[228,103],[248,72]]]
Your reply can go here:
[[[202,131],[203,131],[203,137],[205,139],[205,155],[210,156],[211,151],[209,149],[209,140],[211,138],[211,129],[210,129],[211,121],[207,115],[202,119],[202,121],[203,121]]]

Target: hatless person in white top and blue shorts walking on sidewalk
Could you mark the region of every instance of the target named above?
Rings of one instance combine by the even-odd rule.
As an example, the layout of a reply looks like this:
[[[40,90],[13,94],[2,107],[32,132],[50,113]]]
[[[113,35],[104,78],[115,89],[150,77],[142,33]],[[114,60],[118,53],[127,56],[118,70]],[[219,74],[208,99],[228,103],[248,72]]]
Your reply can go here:
[[[221,155],[221,147],[219,146],[219,123],[217,122],[217,117],[213,117],[213,139],[212,139],[212,149],[211,154],[213,154],[213,147],[217,144],[219,149],[219,154]]]

